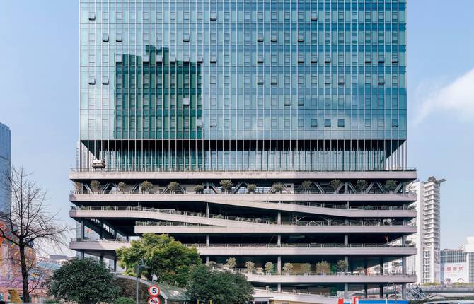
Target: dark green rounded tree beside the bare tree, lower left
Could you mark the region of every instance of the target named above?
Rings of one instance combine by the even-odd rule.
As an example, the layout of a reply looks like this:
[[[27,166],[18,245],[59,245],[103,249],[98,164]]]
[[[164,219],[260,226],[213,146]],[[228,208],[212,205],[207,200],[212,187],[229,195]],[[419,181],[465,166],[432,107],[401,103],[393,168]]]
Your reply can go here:
[[[102,262],[71,259],[54,271],[47,281],[47,290],[57,300],[79,304],[108,302],[119,293],[112,281],[113,275]]]

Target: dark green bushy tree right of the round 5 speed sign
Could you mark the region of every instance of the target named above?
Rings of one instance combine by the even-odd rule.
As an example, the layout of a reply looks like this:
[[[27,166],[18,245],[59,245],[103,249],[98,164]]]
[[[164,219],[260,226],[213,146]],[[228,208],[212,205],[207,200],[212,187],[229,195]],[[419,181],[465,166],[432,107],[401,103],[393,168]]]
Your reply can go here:
[[[243,274],[212,271],[200,265],[192,271],[187,291],[201,303],[246,304],[252,300],[253,287]]]

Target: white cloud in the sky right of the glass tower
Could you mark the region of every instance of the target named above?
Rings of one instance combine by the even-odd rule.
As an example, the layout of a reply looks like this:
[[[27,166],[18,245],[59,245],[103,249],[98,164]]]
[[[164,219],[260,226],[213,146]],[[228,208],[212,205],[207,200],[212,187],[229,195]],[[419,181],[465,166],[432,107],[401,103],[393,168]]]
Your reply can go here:
[[[463,119],[474,119],[474,69],[445,85],[432,84],[418,107],[415,123],[433,112],[449,111]]]

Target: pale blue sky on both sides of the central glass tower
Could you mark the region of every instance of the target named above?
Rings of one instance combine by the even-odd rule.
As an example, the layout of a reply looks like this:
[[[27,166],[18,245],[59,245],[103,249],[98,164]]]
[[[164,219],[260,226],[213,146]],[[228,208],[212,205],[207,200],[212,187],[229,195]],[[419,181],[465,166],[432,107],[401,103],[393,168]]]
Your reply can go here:
[[[455,5],[449,5],[455,4]],[[441,247],[474,235],[474,1],[408,3],[409,163],[442,186]],[[0,122],[15,165],[69,220],[79,134],[79,1],[2,1]]]

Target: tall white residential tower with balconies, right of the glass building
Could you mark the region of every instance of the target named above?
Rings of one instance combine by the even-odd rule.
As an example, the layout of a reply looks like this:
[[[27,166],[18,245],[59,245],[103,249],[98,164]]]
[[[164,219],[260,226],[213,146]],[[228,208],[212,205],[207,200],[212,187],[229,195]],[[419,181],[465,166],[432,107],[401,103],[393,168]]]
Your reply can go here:
[[[429,177],[427,182],[416,180],[407,187],[417,194],[417,201],[410,207],[417,210],[417,218],[410,223],[417,226],[417,233],[407,239],[417,247],[417,255],[409,257],[407,268],[417,274],[417,283],[439,283],[441,281],[440,254],[440,207],[441,182]]]

